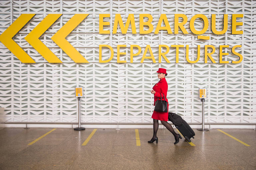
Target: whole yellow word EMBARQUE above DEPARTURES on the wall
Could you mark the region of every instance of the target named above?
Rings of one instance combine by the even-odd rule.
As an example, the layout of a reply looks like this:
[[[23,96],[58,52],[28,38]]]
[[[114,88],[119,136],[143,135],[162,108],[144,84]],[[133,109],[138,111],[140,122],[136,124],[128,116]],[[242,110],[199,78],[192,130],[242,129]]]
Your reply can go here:
[[[110,27],[110,22],[103,22],[104,18],[110,18],[110,14],[99,14],[99,33],[100,34],[110,34],[110,30],[104,30],[104,26]],[[147,21],[144,21],[144,18],[147,18]],[[183,21],[179,22],[179,18],[182,18]],[[202,30],[197,30],[195,28],[195,20],[201,18],[203,20],[204,26]],[[243,34],[243,31],[237,31],[237,26],[242,26],[243,22],[237,22],[237,18],[243,18],[243,14],[232,14],[232,34]],[[154,30],[154,25],[152,24],[153,17],[151,14],[139,14],[139,34],[150,34]],[[188,17],[185,14],[174,14],[174,34],[179,33],[179,29],[183,34],[189,34],[185,28],[185,24],[188,21]],[[164,23],[165,26],[161,26]],[[120,14],[115,14],[114,25],[112,33],[117,33],[118,24],[120,26],[122,34],[127,34],[128,28],[131,25],[132,34],[137,34],[134,14],[129,14],[124,25],[122,17]],[[144,27],[147,27],[147,30],[144,30]],[[190,31],[196,35],[204,34],[209,27],[208,18],[203,14],[196,14],[192,16],[189,22]],[[218,31],[216,29],[216,14],[211,15],[211,31],[216,35],[222,35],[227,32],[228,28],[228,14],[223,14],[223,29]],[[166,14],[161,14],[155,29],[154,34],[159,34],[160,30],[166,30],[168,34],[173,34],[170,27],[169,21]],[[208,39],[203,39],[208,40]]]

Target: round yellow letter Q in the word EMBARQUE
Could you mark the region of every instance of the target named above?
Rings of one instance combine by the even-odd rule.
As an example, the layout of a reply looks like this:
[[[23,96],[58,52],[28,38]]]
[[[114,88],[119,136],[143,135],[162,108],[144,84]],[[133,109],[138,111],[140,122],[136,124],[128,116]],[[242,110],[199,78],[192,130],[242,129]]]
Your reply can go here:
[[[204,28],[201,30],[201,31],[197,31],[195,29],[195,20],[197,18],[202,18],[203,19],[203,22],[204,22]],[[196,35],[201,35],[201,34],[204,34],[207,29],[208,29],[208,26],[209,26],[209,21],[207,19],[207,17],[203,14],[196,14],[194,15],[191,20],[190,20],[190,23],[189,23],[189,27],[190,27],[190,30],[193,34],[196,34]]]

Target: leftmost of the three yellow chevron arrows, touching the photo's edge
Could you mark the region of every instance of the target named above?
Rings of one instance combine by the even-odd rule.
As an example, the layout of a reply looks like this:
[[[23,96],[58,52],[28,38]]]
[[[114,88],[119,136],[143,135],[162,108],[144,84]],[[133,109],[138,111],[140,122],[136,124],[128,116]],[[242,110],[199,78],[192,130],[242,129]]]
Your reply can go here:
[[[23,63],[35,61],[12,39],[36,14],[21,14],[3,34],[0,41]]]

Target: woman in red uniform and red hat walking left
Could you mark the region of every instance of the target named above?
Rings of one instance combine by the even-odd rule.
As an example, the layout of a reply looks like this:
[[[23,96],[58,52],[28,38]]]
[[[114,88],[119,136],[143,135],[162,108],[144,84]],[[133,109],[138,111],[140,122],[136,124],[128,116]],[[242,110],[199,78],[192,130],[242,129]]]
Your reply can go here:
[[[163,99],[163,95],[164,95],[165,101],[168,102],[168,100],[166,98],[167,90],[168,90],[168,85],[165,80],[165,76],[167,75],[166,69],[159,68],[157,73],[158,73],[157,76],[160,80],[154,85],[153,90],[151,90],[151,93],[154,94],[154,106],[155,106],[155,102],[157,101],[158,98],[161,97],[161,95],[162,95],[162,100],[164,100]],[[161,95],[160,95],[160,93],[161,93]],[[169,104],[168,104],[168,107],[169,107]],[[158,143],[158,138],[156,136],[156,133],[158,130],[158,120],[160,120],[162,125],[165,126],[174,135],[174,138],[175,138],[174,144],[179,142],[179,139],[181,138],[180,134],[175,133],[172,126],[167,122],[168,121],[168,111],[166,113],[154,111],[151,118],[153,118],[154,133],[153,133],[152,139],[148,141],[149,143],[153,143],[155,140],[156,140],[156,143]]]

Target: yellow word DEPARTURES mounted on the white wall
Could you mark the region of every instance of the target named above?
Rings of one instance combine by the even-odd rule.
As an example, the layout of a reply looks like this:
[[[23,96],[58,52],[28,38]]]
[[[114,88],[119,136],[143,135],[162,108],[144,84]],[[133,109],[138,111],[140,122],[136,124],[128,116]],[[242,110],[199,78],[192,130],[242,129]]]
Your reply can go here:
[[[108,56],[108,54],[110,53],[110,55],[108,56],[108,59],[106,60],[102,60],[102,48],[105,49],[109,49],[109,51],[105,51],[105,57]],[[120,55],[127,55],[126,52],[120,52],[120,47],[122,48],[127,48],[126,45],[117,45],[116,46],[116,54],[117,54],[117,63],[126,63],[129,62],[127,60],[120,60]],[[238,61],[232,61],[231,63],[237,64],[242,62],[243,60],[243,56],[236,52],[235,49],[237,47],[242,47],[241,45],[235,45],[232,47],[232,53],[236,56],[239,57]],[[129,48],[129,47],[128,47]],[[197,63],[200,59],[200,45],[197,45],[197,58],[195,60],[191,60],[189,59],[189,45],[171,45],[171,47],[169,47],[168,45],[159,45],[158,46],[158,63],[162,63],[162,58],[166,61],[166,63],[171,63],[168,59],[168,53],[170,51],[170,48],[175,49],[176,50],[176,63],[179,63],[179,51],[184,51],[185,50],[185,59],[188,63]],[[229,63],[229,61],[224,61],[223,60],[223,55],[229,55],[229,53],[223,52],[224,48],[229,48],[229,45],[220,45],[219,46],[219,63]],[[136,49],[135,52],[134,49]],[[128,50],[129,51],[129,50]],[[165,51],[165,52],[163,52]],[[208,58],[211,60],[212,63],[216,63],[216,61],[214,60],[212,55],[218,56],[218,54],[215,52],[216,48],[213,45],[205,45],[204,46],[204,63],[208,63]],[[150,55],[147,55],[147,53],[149,53]],[[202,54],[203,55],[203,54]],[[113,47],[111,47],[110,45],[106,45],[106,44],[101,44],[99,46],[99,62],[100,63],[106,63],[106,62],[110,62],[112,61],[114,56],[114,49]],[[130,63],[133,63],[134,57],[140,57],[141,60],[140,62],[143,63],[144,61],[152,61],[153,63],[156,63],[155,60],[155,56],[154,53],[152,51],[152,48],[150,45],[146,45],[145,50],[142,53],[141,47],[139,45],[135,45],[132,44],[130,46]]]

